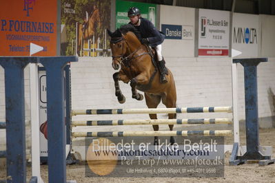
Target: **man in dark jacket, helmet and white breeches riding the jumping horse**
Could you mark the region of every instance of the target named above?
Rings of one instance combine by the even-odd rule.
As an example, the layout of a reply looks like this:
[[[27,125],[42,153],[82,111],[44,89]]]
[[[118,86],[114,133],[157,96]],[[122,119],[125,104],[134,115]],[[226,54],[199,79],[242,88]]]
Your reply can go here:
[[[128,10],[128,17],[130,19],[130,24],[134,25],[135,28],[141,32],[141,43],[150,45],[155,48],[158,58],[157,65],[159,72],[161,73],[161,83],[167,83],[165,74],[168,74],[168,72],[167,68],[165,67],[165,61],[161,54],[161,43],[163,43],[165,36],[156,30],[151,21],[141,17],[139,8],[130,8]]]

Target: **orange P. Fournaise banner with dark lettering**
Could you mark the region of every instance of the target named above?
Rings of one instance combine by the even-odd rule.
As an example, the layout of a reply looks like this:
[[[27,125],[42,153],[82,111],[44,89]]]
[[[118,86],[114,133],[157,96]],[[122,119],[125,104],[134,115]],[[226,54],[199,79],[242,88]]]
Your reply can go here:
[[[35,56],[57,55],[57,0],[1,3],[0,55],[30,56],[30,43],[43,47]]]

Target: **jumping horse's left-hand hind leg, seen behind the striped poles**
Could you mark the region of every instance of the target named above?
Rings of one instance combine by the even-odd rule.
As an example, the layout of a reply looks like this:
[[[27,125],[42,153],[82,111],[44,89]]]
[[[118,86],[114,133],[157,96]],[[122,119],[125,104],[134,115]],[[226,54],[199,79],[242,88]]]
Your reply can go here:
[[[148,108],[156,108],[161,102],[161,96],[144,93],[146,105]],[[151,120],[156,120],[156,114],[149,114]],[[159,125],[153,125],[154,131],[159,131]],[[159,145],[159,137],[154,137],[154,145]]]

